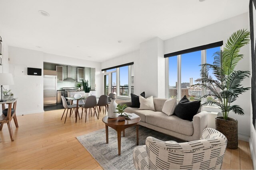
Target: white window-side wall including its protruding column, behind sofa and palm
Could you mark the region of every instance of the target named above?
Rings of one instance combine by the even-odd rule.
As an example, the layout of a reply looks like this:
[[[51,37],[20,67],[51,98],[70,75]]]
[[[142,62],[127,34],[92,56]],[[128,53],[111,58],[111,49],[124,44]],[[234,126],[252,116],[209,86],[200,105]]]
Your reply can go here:
[[[102,68],[108,68],[120,64],[134,62],[134,93],[140,94],[146,91],[146,96],[165,97],[165,62],[162,58],[164,54],[172,53],[200,45],[206,45],[217,41],[224,41],[238,29],[248,29],[248,13],[220,21],[212,25],[173,37],[164,41],[158,37],[150,39],[140,44],[140,50],[116,57],[101,64]],[[164,47],[161,47],[164,45]],[[241,49],[244,59],[240,61],[237,70],[250,70],[250,45]],[[250,78],[243,81],[244,87],[250,87]],[[164,90],[164,91],[163,91]],[[250,91],[239,96],[234,104],[240,105],[244,109],[244,116],[230,113],[230,117],[238,119],[239,139],[248,141],[250,137]],[[209,119],[209,124],[215,124],[214,119]]]

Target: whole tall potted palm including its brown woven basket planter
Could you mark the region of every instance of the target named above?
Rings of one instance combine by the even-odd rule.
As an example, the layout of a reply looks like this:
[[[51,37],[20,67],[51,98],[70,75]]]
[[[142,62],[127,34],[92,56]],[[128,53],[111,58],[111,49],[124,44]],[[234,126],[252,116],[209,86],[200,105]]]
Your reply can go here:
[[[233,111],[238,115],[244,115],[244,110],[233,104],[238,95],[246,92],[250,87],[244,87],[242,81],[250,77],[250,71],[235,70],[236,65],[243,58],[241,47],[250,41],[250,32],[244,29],[234,32],[228,39],[223,50],[214,53],[213,64],[202,64],[201,78],[196,80],[193,86],[204,87],[212,94],[206,94],[202,98],[213,96],[215,100],[208,100],[202,106],[216,105],[221,109],[222,116],[215,118],[216,130],[223,133],[228,139],[227,148],[238,148],[238,121],[230,118]],[[212,70],[213,78],[208,71]],[[220,92],[216,89],[220,89]]]

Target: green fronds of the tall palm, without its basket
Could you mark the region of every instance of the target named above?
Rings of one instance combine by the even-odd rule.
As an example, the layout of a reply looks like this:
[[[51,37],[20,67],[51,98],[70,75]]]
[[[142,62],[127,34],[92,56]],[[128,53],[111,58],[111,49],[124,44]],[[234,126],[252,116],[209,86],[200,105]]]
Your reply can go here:
[[[244,115],[244,110],[240,106],[230,106],[230,104],[236,101],[239,94],[250,89],[250,87],[244,88],[241,84],[244,78],[249,77],[250,72],[234,70],[238,62],[243,58],[243,55],[239,54],[239,52],[244,45],[249,43],[249,35],[250,32],[244,29],[233,33],[228,39],[224,50],[214,53],[213,64],[206,63],[201,65],[201,78],[198,78],[196,80],[198,83],[193,85],[201,86],[213,93],[212,95],[206,94],[201,98],[206,98],[208,96],[218,98],[219,102],[206,101],[202,105],[215,104],[219,106],[222,110],[224,119],[228,119],[229,111],[234,111],[234,113]],[[210,69],[217,80],[214,80],[212,76],[208,74]],[[215,87],[220,88],[222,91],[218,92]]]

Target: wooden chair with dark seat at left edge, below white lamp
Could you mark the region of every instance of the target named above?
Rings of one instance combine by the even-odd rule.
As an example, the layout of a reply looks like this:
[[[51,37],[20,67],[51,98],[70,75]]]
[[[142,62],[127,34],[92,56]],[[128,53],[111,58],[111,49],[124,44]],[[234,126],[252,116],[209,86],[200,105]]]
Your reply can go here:
[[[7,104],[8,104],[7,116],[5,116],[4,114],[0,115],[0,131],[2,131],[4,123],[7,123],[11,141],[14,141],[11,120],[13,119],[15,126],[19,127],[17,117],[16,117],[17,100],[14,103],[7,103]],[[12,107],[12,104],[13,104],[13,107]],[[2,104],[2,110],[4,111],[4,109],[5,109],[5,104]]]

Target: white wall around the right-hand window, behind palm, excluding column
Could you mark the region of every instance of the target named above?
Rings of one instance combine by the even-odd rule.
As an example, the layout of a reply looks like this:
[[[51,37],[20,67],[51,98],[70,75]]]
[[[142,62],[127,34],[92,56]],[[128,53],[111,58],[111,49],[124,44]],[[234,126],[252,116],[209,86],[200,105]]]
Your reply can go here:
[[[248,29],[248,13],[220,21],[212,25],[185,33],[183,35],[164,41],[164,53],[172,53],[200,45],[206,45],[217,41],[225,44],[232,33],[238,29]],[[240,61],[236,70],[250,70],[250,45],[246,45],[240,51],[244,59]],[[250,78],[242,82],[244,87],[250,87]],[[247,140],[250,137],[250,91],[239,96],[233,104],[238,104],[244,109],[244,116],[230,113],[230,117],[238,119],[238,133],[240,139]],[[214,121],[214,119],[212,120]]]

